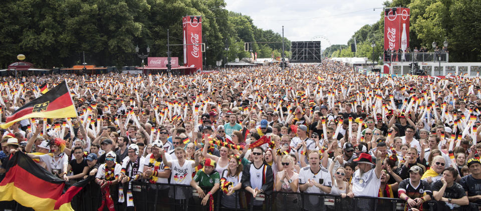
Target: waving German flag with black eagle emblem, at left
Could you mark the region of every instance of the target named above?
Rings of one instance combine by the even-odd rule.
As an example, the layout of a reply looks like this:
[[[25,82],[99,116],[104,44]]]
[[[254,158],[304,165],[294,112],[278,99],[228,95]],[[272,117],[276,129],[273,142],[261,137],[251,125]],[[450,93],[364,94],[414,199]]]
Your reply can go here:
[[[11,116],[7,117],[5,124],[0,125],[0,127],[6,129],[15,122],[34,117],[77,117],[77,111],[65,80],[44,95],[17,109]]]

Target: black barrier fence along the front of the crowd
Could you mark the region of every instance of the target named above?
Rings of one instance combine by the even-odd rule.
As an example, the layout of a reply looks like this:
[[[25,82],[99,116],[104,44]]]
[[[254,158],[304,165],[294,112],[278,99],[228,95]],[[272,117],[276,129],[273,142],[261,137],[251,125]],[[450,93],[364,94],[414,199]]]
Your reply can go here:
[[[202,198],[198,197],[196,189],[190,185],[177,184],[149,184],[132,182],[132,198],[135,209],[127,206],[128,184],[122,185],[125,201],[118,202],[119,189],[117,185],[110,187],[115,210],[209,210],[209,203],[201,205]],[[203,188],[207,193],[210,188]],[[73,199],[75,210],[98,210],[102,203],[99,185],[91,182],[84,187]],[[341,196],[316,193],[274,192],[270,196],[257,197],[256,200],[244,189],[236,190],[227,196],[220,190],[213,195],[214,210],[334,210],[334,211],[374,211],[374,210],[403,210],[404,200],[399,198],[381,198],[355,196],[342,198]],[[23,207],[15,201],[2,202],[1,207],[6,210],[33,210]],[[104,209],[107,210],[107,209]]]

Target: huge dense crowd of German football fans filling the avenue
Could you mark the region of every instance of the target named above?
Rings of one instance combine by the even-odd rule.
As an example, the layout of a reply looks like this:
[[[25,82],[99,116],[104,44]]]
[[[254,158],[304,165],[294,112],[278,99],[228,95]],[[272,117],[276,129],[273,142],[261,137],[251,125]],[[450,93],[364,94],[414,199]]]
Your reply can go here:
[[[64,79],[78,117],[2,130],[2,166],[23,151],[66,182],[129,184],[110,192],[129,210],[142,206],[130,200],[133,181],[191,185],[206,206],[220,192],[228,208],[241,204],[239,189],[255,209],[273,191],[400,198],[406,210],[481,205],[479,78],[379,77],[327,60],[285,71],[5,78],[1,119]],[[318,197],[304,202],[322,207]]]

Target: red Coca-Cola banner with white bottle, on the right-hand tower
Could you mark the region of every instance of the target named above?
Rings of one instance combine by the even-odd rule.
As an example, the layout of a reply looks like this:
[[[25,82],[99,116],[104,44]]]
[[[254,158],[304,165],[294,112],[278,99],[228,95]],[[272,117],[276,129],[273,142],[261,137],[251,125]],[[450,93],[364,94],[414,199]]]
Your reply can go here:
[[[409,48],[409,8],[390,8],[384,11],[384,49]],[[389,65],[384,65],[384,73],[389,73]]]

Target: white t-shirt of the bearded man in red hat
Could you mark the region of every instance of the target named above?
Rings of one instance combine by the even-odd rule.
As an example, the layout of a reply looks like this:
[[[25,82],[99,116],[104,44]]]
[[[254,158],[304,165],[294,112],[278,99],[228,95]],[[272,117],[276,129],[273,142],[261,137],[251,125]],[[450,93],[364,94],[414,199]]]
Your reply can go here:
[[[352,176],[351,184],[354,195],[377,197],[379,194],[379,186],[381,186],[381,177],[379,176],[379,178],[377,178],[374,168],[362,176],[358,169]]]

